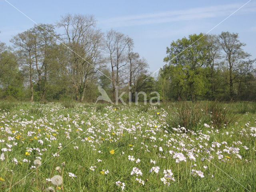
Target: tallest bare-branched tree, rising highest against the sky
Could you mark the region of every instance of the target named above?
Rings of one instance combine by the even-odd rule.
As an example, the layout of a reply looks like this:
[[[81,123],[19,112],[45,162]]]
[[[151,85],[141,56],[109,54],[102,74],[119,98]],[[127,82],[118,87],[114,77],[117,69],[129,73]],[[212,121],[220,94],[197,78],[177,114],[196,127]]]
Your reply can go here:
[[[57,23],[64,28],[64,41],[70,49],[70,62],[65,66],[76,100],[82,101],[88,83],[102,62],[103,34],[96,29],[92,15],[66,14]]]

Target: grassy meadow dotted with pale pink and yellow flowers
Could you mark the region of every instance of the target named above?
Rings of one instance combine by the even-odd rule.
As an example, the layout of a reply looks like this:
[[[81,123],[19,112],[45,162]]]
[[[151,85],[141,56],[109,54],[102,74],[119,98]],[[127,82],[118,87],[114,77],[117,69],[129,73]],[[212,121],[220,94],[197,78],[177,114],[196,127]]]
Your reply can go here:
[[[65,192],[122,191],[117,181],[125,183],[124,191],[256,191],[256,142],[250,128],[256,116],[253,107],[239,110],[243,105],[248,104],[10,104],[8,111],[0,111],[0,148],[10,149],[0,152],[4,156],[1,191],[9,190],[12,178],[12,192],[41,192],[49,186],[61,192],[62,186],[57,188],[46,179],[62,172]],[[189,128],[179,128],[182,122]],[[177,163],[175,153],[182,153],[186,162]],[[32,166],[38,157],[42,165],[37,184]],[[56,166],[64,171],[56,171]],[[92,166],[96,166],[94,171]],[[150,173],[156,166],[159,172]],[[131,175],[134,167],[141,170],[138,178],[144,185],[136,174]],[[167,169],[175,179],[169,181],[170,186],[161,180]],[[204,177],[191,174],[193,169],[201,170]]]

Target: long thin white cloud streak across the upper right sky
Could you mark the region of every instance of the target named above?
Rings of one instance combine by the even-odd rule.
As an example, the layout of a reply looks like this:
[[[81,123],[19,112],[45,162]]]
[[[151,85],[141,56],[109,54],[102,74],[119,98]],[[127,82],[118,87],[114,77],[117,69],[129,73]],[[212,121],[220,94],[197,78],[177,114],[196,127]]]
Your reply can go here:
[[[105,26],[106,28],[112,28],[217,18],[230,14],[230,12],[233,12],[240,6],[241,4],[227,4],[222,6],[207,6],[186,10],[160,12],[155,14],[130,15],[125,17],[115,17],[102,20],[99,22],[99,24]],[[243,12],[255,12],[255,10],[255,4],[251,4],[250,7],[244,8]]]

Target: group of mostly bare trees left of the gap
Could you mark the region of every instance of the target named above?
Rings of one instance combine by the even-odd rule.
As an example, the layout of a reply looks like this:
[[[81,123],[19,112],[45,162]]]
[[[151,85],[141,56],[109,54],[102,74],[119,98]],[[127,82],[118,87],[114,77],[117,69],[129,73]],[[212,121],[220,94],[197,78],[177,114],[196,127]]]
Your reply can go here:
[[[56,28],[62,34],[56,33]],[[35,25],[0,44],[2,98],[93,101],[102,86],[112,99],[130,85],[132,95],[148,81],[148,63],[133,51],[132,38],[105,34],[92,15],[66,14],[52,24]]]

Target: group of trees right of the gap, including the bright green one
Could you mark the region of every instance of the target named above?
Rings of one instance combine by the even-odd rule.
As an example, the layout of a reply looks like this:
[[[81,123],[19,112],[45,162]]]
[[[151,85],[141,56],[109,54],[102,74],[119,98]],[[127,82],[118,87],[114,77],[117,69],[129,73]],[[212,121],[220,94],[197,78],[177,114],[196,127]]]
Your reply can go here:
[[[167,47],[159,80],[164,98],[255,100],[255,59],[243,50],[237,33],[192,34]]]

